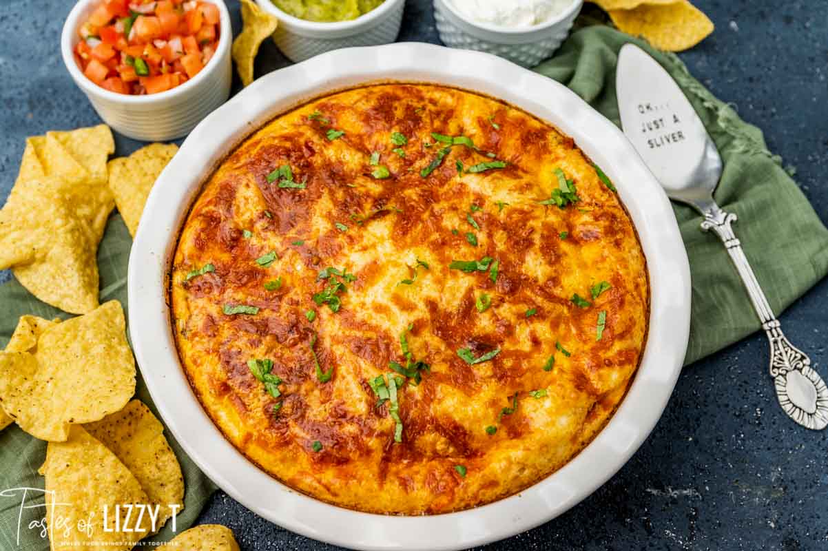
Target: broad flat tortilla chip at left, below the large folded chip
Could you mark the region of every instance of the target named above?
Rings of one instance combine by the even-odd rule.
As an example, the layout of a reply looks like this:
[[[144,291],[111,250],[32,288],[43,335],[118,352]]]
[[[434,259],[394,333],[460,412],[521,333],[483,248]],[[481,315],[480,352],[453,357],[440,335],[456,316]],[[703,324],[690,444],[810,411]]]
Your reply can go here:
[[[71,424],[120,410],[135,393],[135,361],[117,300],[46,328],[28,352],[0,352],[0,400],[21,429],[62,442]]]

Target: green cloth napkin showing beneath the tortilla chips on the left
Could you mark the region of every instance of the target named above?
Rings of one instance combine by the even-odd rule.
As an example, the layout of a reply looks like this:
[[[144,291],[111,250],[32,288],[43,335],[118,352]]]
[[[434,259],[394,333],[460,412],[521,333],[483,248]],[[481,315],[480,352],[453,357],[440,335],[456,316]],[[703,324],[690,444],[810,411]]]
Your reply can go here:
[[[127,313],[127,263],[132,237],[120,214],[109,218],[106,233],[98,249],[98,269],[100,271],[100,300],[118,299]],[[5,347],[8,339],[17,327],[17,319],[23,314],[35,314],[45,319],[60,317],[70,318],[59,309],[44,304],[23,289],[17,280],[0,285],[0,347]],[[158,410],[152,403],[147,386],[138,375],[137,398],[147,404],[158,416]],[[215,490],[213,482],[200,472],[195,463],[186,456],[176,439],[166,431],[166,439],[176,453],[184,475],[185,496],[184,509],[176,520],[176,533],[190,528],[204,507],[205,502]],[[47,551],[49,540],[41,538],[40,529],[29,529],[33,520],[40,520],[45,515],[43,507],[25,510],[21,515],[22,492],[12,492],[14,488],[43,488],[43,477],[37,470],[46,459],[46,443],[32,438],[12,424],[0,431],[0,549],[3,551]],[[3,494],[7,494],[3,496]],[[26,507],[43,505],[41,492],[28,492]],[[18,520],[20,520],[18,545]],[[172,539],[171,522],[167,522],[155,537],[144,540],[165,542]]]

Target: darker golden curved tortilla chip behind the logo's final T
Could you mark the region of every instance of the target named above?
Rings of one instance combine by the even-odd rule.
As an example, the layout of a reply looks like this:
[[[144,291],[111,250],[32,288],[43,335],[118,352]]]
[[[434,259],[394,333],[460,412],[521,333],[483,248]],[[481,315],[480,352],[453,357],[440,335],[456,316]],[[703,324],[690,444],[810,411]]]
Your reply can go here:
[[[149,496],[149,503],[160,505],[156,529],[172,516],[170,505],[179,505],[179,512],[184,508],[181,466],[164,438],[164,425],[141,400],[132,400],[123,410],[86,424],[84,429],[128,467]]]

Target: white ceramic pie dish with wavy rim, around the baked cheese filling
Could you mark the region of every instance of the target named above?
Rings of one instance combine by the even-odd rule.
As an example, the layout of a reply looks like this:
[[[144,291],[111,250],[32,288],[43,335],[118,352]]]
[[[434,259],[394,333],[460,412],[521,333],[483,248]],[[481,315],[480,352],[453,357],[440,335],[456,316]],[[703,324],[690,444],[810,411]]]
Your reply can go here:
[[[432,61],[440,59],[440,64]],[[216,165],[272,117],[338,89],[381,81],[452,85],[503,99],[573,137],[619,189],[651,284],[650,329],[628,395],[590,445],[521,493],[476,509],[384,516],[328,505],[291,490],[224,439],[190,389],[172,338],[167,274],[179,228]],[[627,462],[662,414],[684,360],[690,269],[672,208],[618,128],[575,93],[493,55],[426,44],[337,50],[268,74],[190,134],[144,209],[128,271],[129,323],[142,376],[167,427],[234,499],[277,525],[352,549],[465,549],[540,525],[583,500]]]

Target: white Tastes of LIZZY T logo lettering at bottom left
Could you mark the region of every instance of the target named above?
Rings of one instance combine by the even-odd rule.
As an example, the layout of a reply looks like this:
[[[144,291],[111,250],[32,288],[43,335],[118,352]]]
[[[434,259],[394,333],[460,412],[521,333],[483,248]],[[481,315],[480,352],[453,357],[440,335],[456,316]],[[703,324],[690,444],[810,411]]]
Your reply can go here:
[[[34,501],[38,496],[48,496],[48,503],[26,503]],[[36,530],[41,538],[46,536],[55,539],[95,539],[102,534],[154,534],[164,520],[161,518],[161,505],[147,505],[144,503],[123,503],[116,505],[101,505],[99,511],[84,510],[84,517],[78,518],[77,510],[74,514],[66,514],[78,504],[62,503],[55,500],[55,491],[46,491],[42,488],[10,488],[0,491],[0,498],[15,499],[20,506],[17,512],[17,546],[20,546],[21,536],[25,537],[24,530]],[[168,505],[171,511],[172,531],[176,532],[176,515],[181,509],[180,504]],[[30,512],[31,511],[31,512]],[[42,515],[41,515],[42,514]],[[35,520],[29,520],[37,515]],[[77,531],[73,537],[72,532]],[[80,536],[79,538],[77,536]],[[140,539],[140,538],[138,538]]]

